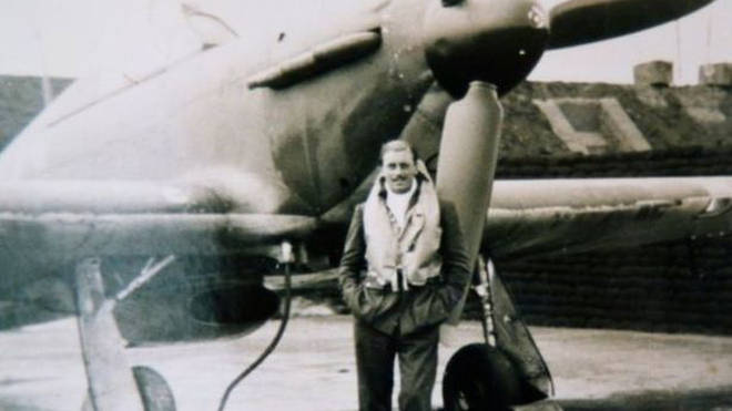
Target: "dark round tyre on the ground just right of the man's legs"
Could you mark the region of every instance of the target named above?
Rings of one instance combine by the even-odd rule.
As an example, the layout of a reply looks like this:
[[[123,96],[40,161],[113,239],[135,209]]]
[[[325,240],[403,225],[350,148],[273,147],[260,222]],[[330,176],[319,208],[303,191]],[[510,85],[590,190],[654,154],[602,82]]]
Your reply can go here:
[[[509,410],[521,403],[521,382],[511,361],[485,343],[460,348],[443,378],[445,411]]]

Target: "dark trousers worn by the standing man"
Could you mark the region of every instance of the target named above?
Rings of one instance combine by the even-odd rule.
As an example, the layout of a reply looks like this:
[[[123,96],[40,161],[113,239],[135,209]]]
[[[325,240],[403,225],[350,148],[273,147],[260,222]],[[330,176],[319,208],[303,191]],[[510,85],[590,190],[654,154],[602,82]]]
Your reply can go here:
[[[431,411],[439,327],[389,336],[356,320],[359,411],[392,411],[394,359],[399,357],[400,411]]]

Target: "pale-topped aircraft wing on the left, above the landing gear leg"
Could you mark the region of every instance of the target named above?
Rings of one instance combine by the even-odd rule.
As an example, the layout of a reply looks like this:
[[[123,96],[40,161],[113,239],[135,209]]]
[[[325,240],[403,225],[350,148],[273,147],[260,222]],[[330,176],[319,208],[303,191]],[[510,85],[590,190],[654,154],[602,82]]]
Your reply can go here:
[[[0,183],[0,253],[221,254],[298,239],[315,227],[314,217],[243,213],[233,201],[175,183]]]

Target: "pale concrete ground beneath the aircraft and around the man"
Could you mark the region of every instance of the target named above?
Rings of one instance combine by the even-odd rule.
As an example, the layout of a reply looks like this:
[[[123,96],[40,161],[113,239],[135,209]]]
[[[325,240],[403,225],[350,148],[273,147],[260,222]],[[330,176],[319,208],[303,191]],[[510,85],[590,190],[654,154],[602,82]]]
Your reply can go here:
[[[240,339],[126,353],[132,364],[152,367],[167,380],[177,410],[215,410],[226,386],[268,345],[277,326],[270,321]],[[531,330],[555,378],[552,402],[566,410],[732,410],[730,337]],[[454,340],[476,341],[479,332],[479,323],[464,322]],[[440,347],[438,380],[458,348]],[[78,411],[85,390],[74,319],[0,332],[0,410]],[[441,404],[439,390],[438,384],[435,405]],[[292,319],[277,350],[231,395],[226,410],[245,409],[356,410],[352,319]]]

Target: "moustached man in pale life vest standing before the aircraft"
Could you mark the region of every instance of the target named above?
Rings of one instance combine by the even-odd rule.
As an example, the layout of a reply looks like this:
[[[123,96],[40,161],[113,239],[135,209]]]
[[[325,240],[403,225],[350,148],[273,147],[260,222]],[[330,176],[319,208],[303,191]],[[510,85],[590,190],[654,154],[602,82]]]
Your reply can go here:
[[[360,411],[390,411],[399,358],[399,410],[430,411],[439,325],[470,278],[451,203],[437,197],[404,141],[382,147],[382,173],[356,207],[339,268],[354,312]]]

